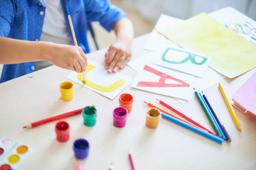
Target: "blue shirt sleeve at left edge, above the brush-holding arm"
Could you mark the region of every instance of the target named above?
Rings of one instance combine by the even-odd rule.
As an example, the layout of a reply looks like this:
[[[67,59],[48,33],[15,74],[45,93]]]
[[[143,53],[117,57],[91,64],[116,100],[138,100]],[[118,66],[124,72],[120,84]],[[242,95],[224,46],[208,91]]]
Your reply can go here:
[[[10,0],[0,1],[0,36],[8,37],[14,21],[14,4]]]

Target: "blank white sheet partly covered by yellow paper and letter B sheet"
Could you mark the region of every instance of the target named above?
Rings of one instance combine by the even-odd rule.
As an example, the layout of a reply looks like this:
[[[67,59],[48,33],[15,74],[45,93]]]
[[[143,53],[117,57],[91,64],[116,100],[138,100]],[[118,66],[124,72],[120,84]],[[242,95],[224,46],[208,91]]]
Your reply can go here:
[[[179,23],[183,23],[183,20],[174,18],[172,16],[167,16],[165,14],[161,14],[159,20],[156,22],[155,29],[152,30],[149,40],[146,42],[144,49],[151,51],[161,52],[165,50],[167,47],[178,47],[174,42],[161,35],[163,28],[173,27]],[[159,32],[159,33],[158,33]]]

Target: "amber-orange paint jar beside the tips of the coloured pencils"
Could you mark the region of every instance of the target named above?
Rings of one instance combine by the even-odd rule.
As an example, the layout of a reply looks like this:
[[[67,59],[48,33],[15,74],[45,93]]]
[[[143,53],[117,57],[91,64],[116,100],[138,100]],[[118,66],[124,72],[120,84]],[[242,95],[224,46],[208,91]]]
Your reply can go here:
[[[157,108],[150,108],[146,112],[146,127],[148,128],[157,128],[159,120],[161,118],[161,113]]]

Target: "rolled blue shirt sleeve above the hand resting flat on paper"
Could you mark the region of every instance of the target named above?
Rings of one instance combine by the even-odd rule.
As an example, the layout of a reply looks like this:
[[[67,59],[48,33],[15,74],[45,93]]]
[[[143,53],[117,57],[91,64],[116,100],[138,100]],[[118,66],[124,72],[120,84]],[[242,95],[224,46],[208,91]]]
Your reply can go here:
[[[89,0],[85,8],[87,21],[99,21],[100,25],[109,32],[119,19],[127,16],[121,8],[110,4],[110,0]]]

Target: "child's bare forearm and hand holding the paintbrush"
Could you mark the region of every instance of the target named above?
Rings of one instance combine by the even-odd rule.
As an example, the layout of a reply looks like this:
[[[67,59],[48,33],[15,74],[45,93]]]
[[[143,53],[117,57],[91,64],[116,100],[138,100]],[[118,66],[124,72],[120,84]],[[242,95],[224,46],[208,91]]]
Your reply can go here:
[[[1,64],[48,60],[58,67],[75,72],[85,72],[87,66],[85,53],[73,45],[0,37],[0,51]]]

